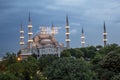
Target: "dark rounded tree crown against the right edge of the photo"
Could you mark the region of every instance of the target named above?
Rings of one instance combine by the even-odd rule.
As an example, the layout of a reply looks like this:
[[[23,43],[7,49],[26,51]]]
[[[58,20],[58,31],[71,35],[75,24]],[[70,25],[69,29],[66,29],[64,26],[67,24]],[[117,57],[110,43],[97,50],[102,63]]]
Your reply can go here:
[[[120,71],[120,53],[112,51],[108,53],[100,63],[103,68],[112,71]]]

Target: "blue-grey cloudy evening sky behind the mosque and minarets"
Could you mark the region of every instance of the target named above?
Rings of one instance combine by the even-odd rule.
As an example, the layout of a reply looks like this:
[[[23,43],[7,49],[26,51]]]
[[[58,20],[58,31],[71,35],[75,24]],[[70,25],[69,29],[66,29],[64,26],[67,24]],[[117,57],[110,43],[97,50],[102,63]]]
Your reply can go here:
[[[27,42],[28,14],[31,12],[33,33],[40,26],[59,27],[56,38],[65,44],[65,18],[69,16],[71,47],[81,47],[81,28],[86,46],[103,45],[103,22],[106,22],[108,43],[120,44],[120,0],[0,0],[0,55],[17,52],[20,24]]]

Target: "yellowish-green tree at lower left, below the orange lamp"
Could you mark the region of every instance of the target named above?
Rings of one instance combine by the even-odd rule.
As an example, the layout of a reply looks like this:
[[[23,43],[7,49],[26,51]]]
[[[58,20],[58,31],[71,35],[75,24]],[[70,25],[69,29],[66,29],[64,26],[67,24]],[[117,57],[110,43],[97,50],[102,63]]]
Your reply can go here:
[[[37,74],[37,60],[34,57],[29,56],[27,60],[10,64],[7,66],[6,71],[11,72],[12,75],[20,80],[30,80]]]

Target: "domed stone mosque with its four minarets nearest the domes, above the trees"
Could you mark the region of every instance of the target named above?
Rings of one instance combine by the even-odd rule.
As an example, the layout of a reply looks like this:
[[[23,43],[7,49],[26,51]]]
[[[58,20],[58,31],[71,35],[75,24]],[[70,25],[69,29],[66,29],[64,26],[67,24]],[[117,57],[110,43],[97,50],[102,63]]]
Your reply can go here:
[[[40,27],[39,32],[33,36],[30,14],[28,21],[28,42],[26,43],[26,46],[24,45],[24,30],[22,25],[20,30],[21,59],[26,59],[32,54],[35,54],[37,58],[40,58],[43,55],[55,55],[60,57],[61,52],[70,47],[64,47],[64,44],[57,41],[55,38],[56,30],[53,24],[50,31],[48,31],[48,27]],[[68,17],[66,18],[66,26],[68,26]],[[66,28],[66,38],[68,40],[69,34],[67,33],[69,33],[68,27]],[[66,43],[69,45],[68,41],[66,41]]]

